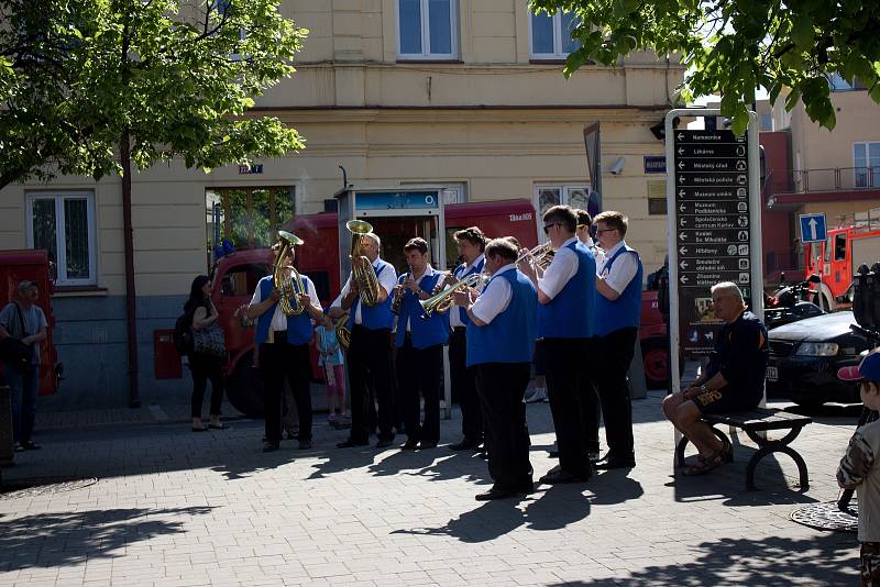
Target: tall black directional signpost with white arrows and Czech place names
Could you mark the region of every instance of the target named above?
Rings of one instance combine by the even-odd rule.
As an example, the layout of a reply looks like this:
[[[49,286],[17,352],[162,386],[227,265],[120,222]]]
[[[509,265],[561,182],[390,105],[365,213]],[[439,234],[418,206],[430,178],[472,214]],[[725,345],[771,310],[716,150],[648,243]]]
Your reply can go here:
[[[715,284],[737,284],[749,308],[763,311],[756,117],[744,136],[672,128],[674,118],[719,114],[683,109],[667,115],[672,365],[704,362],[712,351],[721,325],[710,292]],[[672,380],[673,390],[682,388],[678,369]]]

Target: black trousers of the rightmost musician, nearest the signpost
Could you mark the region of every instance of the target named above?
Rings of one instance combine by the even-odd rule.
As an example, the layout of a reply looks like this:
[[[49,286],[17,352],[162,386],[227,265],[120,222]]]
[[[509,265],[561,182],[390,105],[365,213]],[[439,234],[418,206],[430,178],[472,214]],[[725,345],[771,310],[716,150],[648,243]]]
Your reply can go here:
[[[608,454],[625,461],[631,459],[635,454],[632,401],[626,374],[632,362],[637,336],[637,328],[625,328],[600,336],[596,341],[596,361],[600,367],[594,373],[602,402],[602,417],[605,420]]]

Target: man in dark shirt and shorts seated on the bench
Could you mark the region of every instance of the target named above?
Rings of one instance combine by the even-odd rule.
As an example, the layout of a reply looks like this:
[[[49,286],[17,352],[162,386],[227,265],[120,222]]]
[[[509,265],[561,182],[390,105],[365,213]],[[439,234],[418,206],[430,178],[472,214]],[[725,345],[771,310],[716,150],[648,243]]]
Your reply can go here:
[[[715,348],[704,373],[684,391],[667,396],[663,413],[700,451],[685,475],[703,475],[733,461],[733,446],[721,441],[703,414],[752,409],[763,397],[769,347],[767,329],[746,310],[736,284],[712,287],[715,315],[725,323],[715,335]]]

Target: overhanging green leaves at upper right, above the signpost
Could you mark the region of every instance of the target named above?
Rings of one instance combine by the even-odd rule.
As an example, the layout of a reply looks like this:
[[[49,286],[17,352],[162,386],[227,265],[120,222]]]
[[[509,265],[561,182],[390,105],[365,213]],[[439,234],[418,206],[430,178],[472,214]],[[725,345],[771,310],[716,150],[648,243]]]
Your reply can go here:
[[[858,78],[880,102],[880,10],[865,0],[531,0],[536,11],[572,11],[581,42],[564,74],[586,63],[615,65],[632,51],[681,55],[682,97],[722,96],[734,130],[748,124],[747,104],[763,87],[785,107],[834,129],[827,76]]]

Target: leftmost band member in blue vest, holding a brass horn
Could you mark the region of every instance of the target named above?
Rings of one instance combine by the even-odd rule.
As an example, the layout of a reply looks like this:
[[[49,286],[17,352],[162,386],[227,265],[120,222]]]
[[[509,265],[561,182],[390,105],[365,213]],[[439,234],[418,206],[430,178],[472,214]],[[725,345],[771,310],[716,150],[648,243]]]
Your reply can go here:
[[[278,245],[275,245],[277,253]],[[294,247],[288,248],[284,259],[286,275],[294,266]],[[263,376],[263,394],[266,412],[266,440],[263,452],[278,448],[282,438],[282,390],[284,381],[290,386],[299,414],[299,447],[311,447],[311,359],[309,343],[312,337],[312,320],[323,318],[321,302],[315,284],[301,275],[302,294],[299,303],[304,311],[287,315],[282,309],[280,291],[272,275],[262,278],[248,306],[248,318],[256,319],[256,344],[260,345],[260,373]]]

